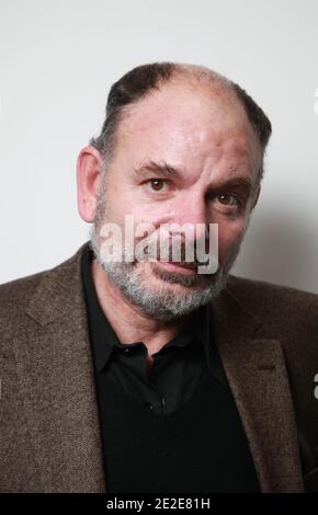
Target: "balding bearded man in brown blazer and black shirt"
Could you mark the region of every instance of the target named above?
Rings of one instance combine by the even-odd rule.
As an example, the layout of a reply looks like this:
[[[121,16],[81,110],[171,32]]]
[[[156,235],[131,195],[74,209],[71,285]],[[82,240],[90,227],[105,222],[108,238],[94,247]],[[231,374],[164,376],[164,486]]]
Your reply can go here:
[[[270,135],[207,68],[112,87],[78,158],[91,241],[0,288],[1,491],[318,491],[317,296],[229,274]],[[184,225],[205,258],[217,227],[215,270]],[[162,227],[168,259],[146,239]]]

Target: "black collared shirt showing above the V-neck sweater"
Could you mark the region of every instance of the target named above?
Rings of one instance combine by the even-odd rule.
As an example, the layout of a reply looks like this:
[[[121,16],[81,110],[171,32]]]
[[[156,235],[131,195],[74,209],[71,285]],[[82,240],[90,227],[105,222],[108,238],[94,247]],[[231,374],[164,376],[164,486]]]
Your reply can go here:
[[[92,259],[93,251],[88,245],[82,255],[82,278],[98,392],[103,390],[103,378],[107,375],[145,408],[166,414],[191,398],[203,375],[213,374],[226,384],[216,348],[211,344],[207,306],[196,310],[192,324],[152,355],[148,374],[146,345],[121,343],[101,309],[91,274]]]

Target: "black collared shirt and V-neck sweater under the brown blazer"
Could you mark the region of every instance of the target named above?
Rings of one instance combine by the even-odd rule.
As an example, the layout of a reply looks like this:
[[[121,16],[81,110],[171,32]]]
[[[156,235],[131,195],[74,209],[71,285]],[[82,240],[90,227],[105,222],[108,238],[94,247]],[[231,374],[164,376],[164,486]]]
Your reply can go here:
[[[122,344],[102,311],[92,259],[88,243],[81,271],[107,491],[258,492],[248,442],[213,342],[209,306],[194,311],[186,330],[152,355],[147,373],[145,344]]]

